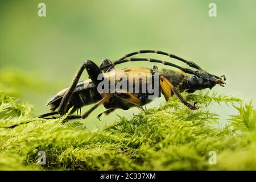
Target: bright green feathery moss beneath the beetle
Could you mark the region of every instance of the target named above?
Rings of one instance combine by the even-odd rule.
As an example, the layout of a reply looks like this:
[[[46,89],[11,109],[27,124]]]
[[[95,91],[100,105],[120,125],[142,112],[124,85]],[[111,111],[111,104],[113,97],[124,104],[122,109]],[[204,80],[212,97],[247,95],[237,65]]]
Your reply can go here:
[[[0,93],[0,169],[212,170],[256,169],[255,109],[237,97],[216,93],[183,94],[200,101],[191,111],[174,97],[119,117],[102,130],[88,131],[81,120],[30,117],[30,106]],[[237,111],[224,127],[213,103]],[[36,164],[46,152],[46,165]],[[210,165],[209,151],[217,164]]]

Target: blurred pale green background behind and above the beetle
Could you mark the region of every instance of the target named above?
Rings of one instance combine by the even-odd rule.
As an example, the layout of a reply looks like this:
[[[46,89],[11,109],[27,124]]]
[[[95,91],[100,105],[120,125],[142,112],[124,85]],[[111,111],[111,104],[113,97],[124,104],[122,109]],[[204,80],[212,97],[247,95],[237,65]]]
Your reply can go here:
[[[46,17],[38,16],[40,2],[46,4]],[[217,4],[217,17],[208,15],[210,2]],[[1,1],[0,89],[30,102],[35,115],[46,113],[47,100],[70,84],[82,61],[100,64],[139,49],[159,49],[214,75],[225,74],[227,85],[216,86],[216,92],[255,101],[255,9],[254,0]],[[152,64],[117,68],[134,65]],[[147,107],[163,102],[162,97]],[[84,121],[89,129],[113,121],[115,114],[130,117],[139,111],[117,110],[98,122],[95,117],[104,110],[99,107]],[[232,114],[219,106],[213,110]]]

